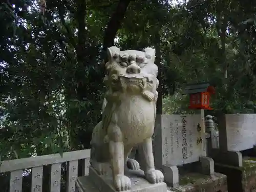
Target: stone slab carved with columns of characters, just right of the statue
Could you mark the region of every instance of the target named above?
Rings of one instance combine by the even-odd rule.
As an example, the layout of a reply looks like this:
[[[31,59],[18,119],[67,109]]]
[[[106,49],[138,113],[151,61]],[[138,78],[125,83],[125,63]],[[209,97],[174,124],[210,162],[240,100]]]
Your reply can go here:
[[[200,135],[200,121],[200,115],[161,115],[161,123],[156,123],[156,142],[154,143],[158,166],[160,164],[182,165],[199,161],[204,148]]]

